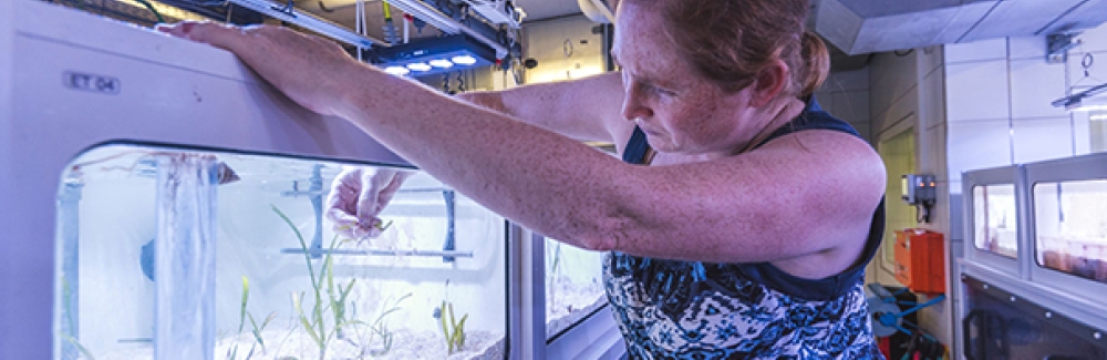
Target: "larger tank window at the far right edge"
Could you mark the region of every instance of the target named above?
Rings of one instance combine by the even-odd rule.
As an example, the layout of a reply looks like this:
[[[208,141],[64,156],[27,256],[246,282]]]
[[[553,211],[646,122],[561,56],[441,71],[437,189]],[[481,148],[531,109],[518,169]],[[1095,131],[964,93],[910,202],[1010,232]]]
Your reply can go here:
[[[1034,184],[1037,265],[1107,282],[1107,179]]]

